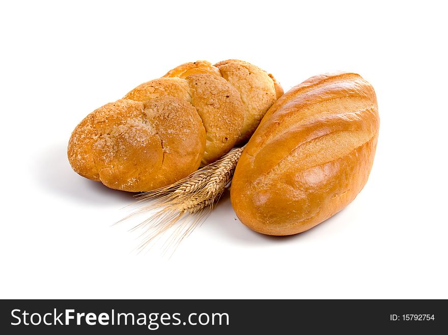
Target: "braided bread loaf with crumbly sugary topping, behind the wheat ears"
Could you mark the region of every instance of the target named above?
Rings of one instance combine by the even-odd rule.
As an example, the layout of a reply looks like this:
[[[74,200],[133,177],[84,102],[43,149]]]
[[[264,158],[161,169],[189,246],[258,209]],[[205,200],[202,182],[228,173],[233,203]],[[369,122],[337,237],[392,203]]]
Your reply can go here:
[[[243,61],[186,63],[89,114],[71,135],[68,159],[107,187],[154,190],[249,138],[282,94],[271,74]]]

